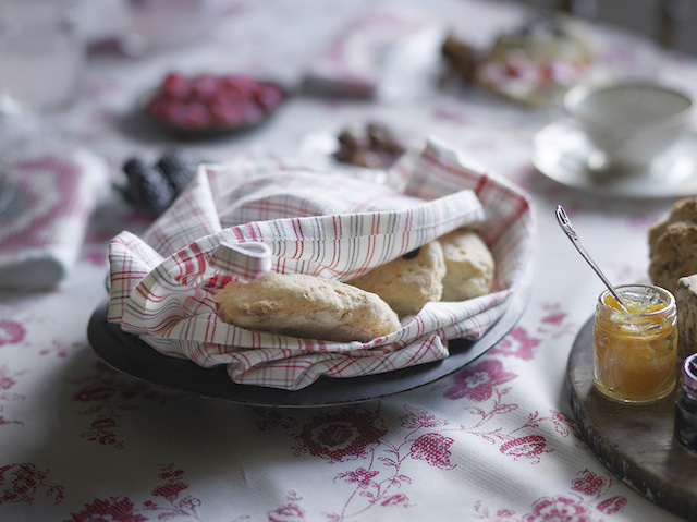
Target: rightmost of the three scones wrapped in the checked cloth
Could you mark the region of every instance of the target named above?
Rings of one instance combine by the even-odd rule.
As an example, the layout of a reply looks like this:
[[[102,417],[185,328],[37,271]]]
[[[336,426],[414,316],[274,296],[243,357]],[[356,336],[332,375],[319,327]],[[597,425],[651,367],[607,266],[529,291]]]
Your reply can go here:
[[[439,238],[445,257],[443,301],[465,301],[491,291],[496,264],[481,236],[458,229]]]

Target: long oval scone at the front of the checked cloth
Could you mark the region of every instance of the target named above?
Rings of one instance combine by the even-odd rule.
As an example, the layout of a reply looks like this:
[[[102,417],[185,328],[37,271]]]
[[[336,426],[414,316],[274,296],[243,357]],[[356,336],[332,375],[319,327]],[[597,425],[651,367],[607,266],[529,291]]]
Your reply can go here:
[[[231,281],[215,301],[225,323],[286,336],[367,342],[401,328],[396,314],[377,295],[303,274]]]

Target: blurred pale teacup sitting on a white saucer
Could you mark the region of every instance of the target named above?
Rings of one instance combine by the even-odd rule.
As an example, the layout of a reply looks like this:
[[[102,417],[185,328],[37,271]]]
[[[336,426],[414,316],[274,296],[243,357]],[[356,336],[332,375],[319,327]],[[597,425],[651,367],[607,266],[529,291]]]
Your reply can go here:
[[[563,104],[597,149],[589,158],[591,170],[645,169],[677,141],[693,118],[689,96],[649,82],[577,85]]]

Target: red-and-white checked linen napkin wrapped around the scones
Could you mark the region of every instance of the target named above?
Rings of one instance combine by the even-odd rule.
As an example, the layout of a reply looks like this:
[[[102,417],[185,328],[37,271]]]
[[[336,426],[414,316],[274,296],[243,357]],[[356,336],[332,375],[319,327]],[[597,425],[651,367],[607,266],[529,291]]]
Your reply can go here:
[[[170,356],[227,365],[235,383],[299,389],[442,360],[448,340],[479,338],[525,277],[529,198],[505,180],[429,142],[389,178],[401,192],[293,160],[204,165],[142,236],[110,243],[108,320]],[[369,342],[329,342],[221,321],[215,293],[234,279],[303,272],[348,280],[451,230],[479,227],[497,259],[492,293],[427,304]]]

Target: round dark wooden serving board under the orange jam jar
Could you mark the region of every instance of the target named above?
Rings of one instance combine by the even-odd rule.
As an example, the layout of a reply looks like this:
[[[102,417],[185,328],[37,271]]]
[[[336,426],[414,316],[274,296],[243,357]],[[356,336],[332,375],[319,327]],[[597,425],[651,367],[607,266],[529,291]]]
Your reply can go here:
[[[678,390],[650,404],[624,404],[592,384],[592,317],[578,332],[566,368],[571,405],[598,459],[656,505],[697,521],[697,453],[673,437]]]

